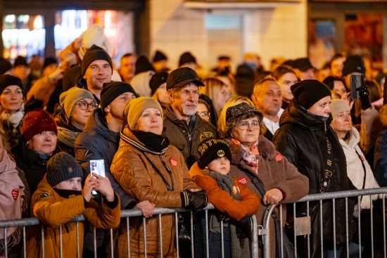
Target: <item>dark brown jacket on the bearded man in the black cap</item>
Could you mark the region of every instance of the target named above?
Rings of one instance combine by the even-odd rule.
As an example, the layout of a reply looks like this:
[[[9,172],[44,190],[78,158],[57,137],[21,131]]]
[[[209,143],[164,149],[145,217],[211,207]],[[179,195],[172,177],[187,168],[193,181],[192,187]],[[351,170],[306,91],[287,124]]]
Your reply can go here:
[[[198,161],[199,157],[201,157],[200,153],[198,153],[201,133],[208,131],[214,137],[217,136],[215,127],[209,122],[202,120],[198,114],[192,116],[191,122],[194,122],[195,125],[194,129],[190,132],[186,122],[179,120],[175,111],[172,110],[170,105],[167,105],[164,112],[165,136],[170,139],[172,146],[180,150],[188,168],[194,165],[194,162]]]

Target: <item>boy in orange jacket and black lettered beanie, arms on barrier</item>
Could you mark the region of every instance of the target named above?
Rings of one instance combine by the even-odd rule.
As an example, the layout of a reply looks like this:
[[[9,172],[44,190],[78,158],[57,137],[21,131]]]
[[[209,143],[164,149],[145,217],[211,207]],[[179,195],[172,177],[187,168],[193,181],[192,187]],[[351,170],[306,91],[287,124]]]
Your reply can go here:
[[[210,137],[210,138],[206,138]],[[210,212],[209,250],[210,257],[222,257],[221,224],[223,221],[224,257],[250,257],[249,216],[260,207],[260,200],[255,193],[245,188],[229,175],[231,152],[227,141],[212,138],[210,133],[201,134],[205,138],[198,146],[201,157],[189,174],[195,183],[208,195],[216,210]],[[204,257],[205,250],[205,217],[195,226],[195,257]]]

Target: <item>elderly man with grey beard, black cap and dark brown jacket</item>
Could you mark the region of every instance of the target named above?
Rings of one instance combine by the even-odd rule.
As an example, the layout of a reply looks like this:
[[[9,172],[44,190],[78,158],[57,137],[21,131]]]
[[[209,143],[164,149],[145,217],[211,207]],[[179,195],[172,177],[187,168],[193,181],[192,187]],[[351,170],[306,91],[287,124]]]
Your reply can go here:
[[[204,131],[216,135],[215,127],[196,114],[201,93],[199,86],[204,86],[203,82],[189,67],[173,70],[167,77],[170,103],[164,112],[165,136],[183,154],[188,168],[201,156],[198,153],[199,136]]]

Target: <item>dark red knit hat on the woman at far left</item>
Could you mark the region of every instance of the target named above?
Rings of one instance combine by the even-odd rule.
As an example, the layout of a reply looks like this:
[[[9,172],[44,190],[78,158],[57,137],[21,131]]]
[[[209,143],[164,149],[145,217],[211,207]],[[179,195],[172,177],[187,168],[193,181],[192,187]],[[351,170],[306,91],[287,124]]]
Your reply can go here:
[[[42,131],[53,131],[55,134],[58,134],[58,128],[52,115],[42,110],[42,108],[36,108],[27,112],[23,120],[24,140],[29,141],[33,136]]]

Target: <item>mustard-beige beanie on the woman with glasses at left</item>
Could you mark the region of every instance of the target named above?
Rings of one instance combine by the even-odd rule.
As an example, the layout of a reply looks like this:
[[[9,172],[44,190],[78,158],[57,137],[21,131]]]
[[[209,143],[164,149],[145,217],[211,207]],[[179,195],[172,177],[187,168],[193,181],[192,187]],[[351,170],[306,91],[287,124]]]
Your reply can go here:
[[[67,118],[71,117],[75,103],[81,101],[84,98],[91,98],[93,101],[95,101],[94,96],[90,93],[90,91],[78,88],[77,86],[74,86],[68,91],[61,93],[61,96],[59,96],[59,103],[61,104],[61,107],[65,110]]]

